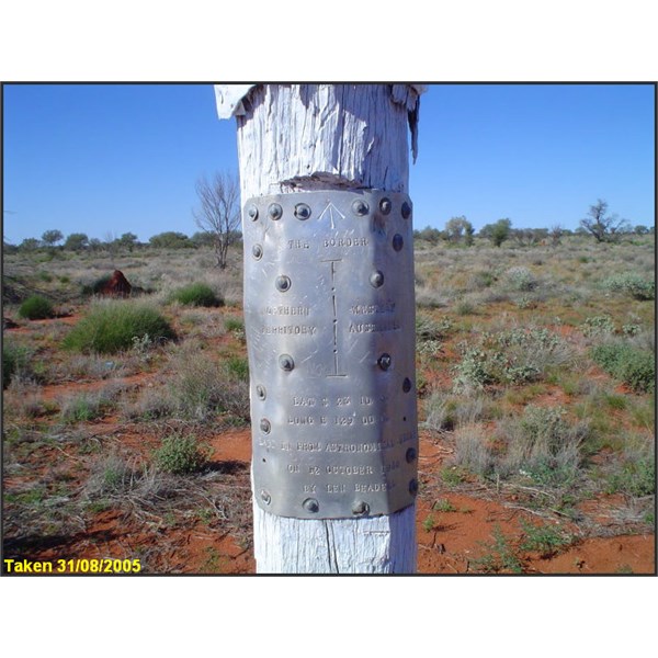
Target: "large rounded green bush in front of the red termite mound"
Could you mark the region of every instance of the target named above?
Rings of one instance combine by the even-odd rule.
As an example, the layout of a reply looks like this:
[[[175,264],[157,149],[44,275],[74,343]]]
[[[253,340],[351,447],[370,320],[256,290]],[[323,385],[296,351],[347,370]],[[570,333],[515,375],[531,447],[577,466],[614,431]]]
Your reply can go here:
[[[128,350],[135,339],[151,343],[175,338],[169,322],[150,305],[103,300],[92,306],[64,340],[64,348],[79,352],[112,354]]]

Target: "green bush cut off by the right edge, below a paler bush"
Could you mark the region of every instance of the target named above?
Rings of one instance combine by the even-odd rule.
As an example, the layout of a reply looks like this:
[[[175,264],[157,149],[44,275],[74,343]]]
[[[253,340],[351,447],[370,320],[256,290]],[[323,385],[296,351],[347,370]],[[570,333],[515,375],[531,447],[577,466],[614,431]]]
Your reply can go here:
[[[626,384],[635,393],[654,392],[656,363],[653,352],[615,342],[597,345],[590,354],[608,374]]]

